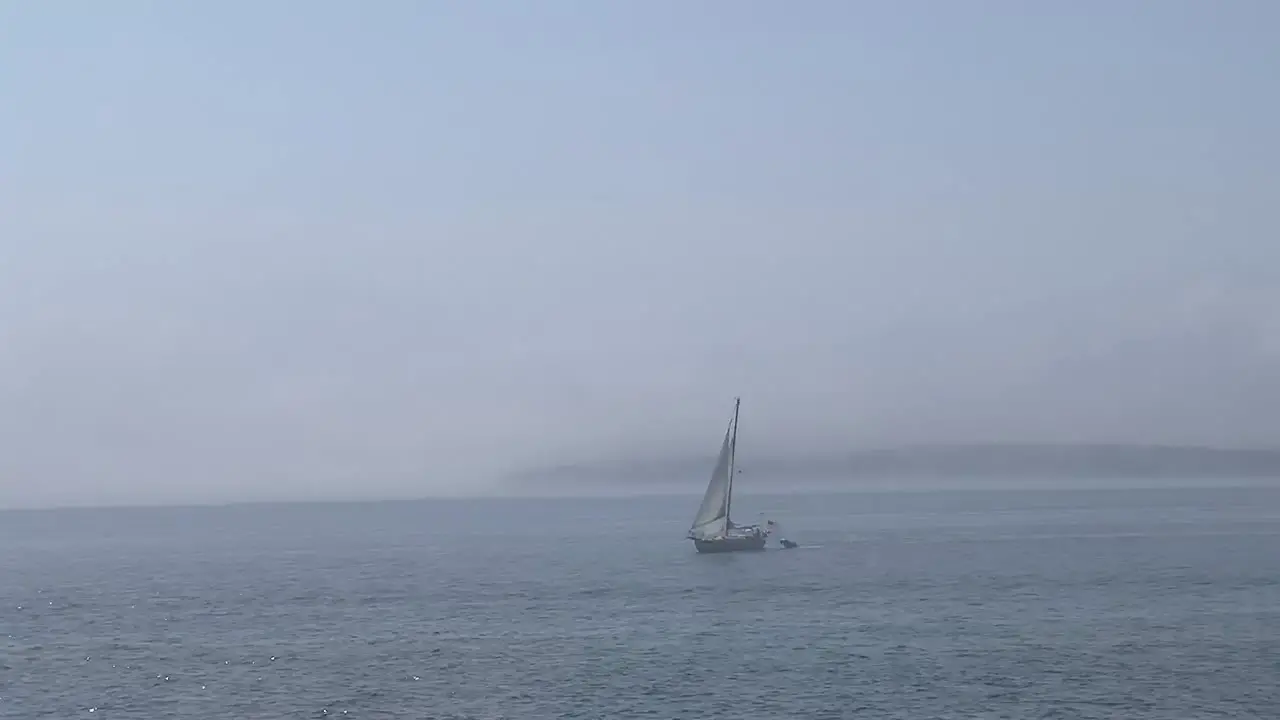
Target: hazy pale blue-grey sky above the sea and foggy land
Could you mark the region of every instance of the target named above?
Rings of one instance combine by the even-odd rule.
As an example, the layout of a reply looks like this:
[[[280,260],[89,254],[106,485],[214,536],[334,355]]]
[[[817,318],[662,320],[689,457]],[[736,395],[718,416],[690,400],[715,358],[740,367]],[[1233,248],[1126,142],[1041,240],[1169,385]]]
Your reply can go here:
[[[1280,4],[0,5],[0,506],[1280,445]]]

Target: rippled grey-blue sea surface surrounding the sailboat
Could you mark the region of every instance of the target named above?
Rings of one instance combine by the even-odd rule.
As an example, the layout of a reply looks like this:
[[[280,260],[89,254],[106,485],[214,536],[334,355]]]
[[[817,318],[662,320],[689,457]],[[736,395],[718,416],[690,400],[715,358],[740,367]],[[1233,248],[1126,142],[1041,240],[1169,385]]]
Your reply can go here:
[[[1275,717],[1280,487],[0,512],[0,717]]]

